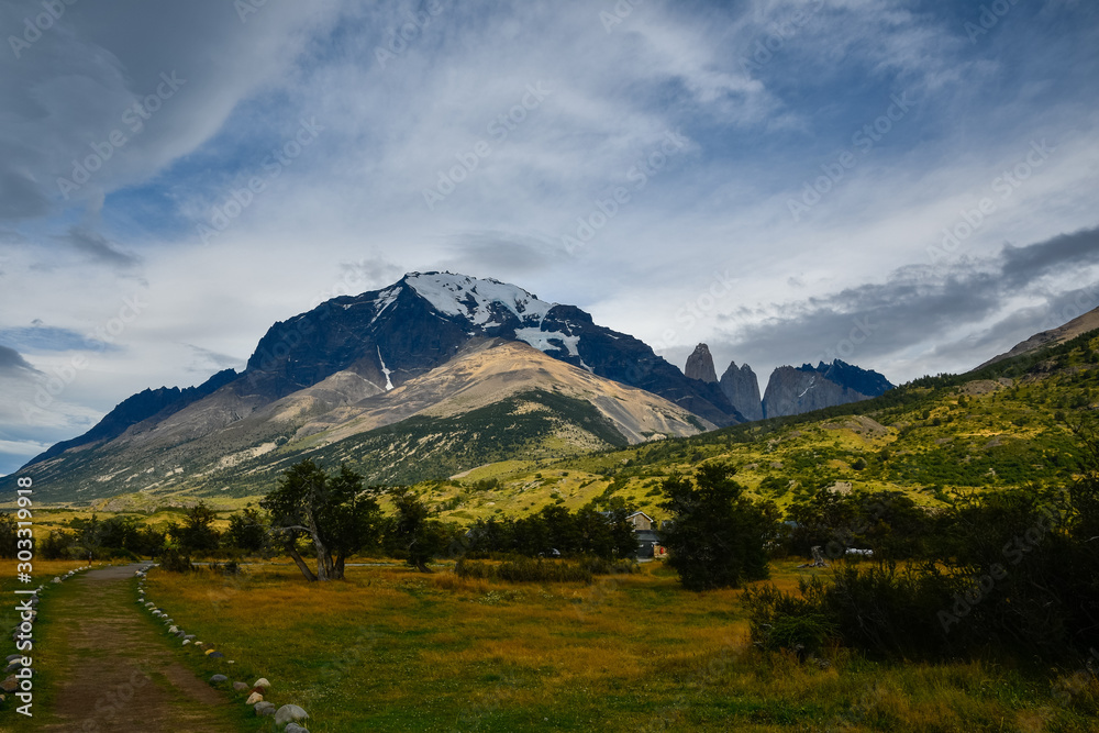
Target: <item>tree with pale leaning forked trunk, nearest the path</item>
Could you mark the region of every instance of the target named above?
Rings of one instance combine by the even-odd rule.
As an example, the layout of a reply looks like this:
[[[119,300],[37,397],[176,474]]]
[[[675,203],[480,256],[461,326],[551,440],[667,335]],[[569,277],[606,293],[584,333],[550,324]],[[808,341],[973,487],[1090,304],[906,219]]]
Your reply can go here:
[[[364,490],[363,477],[346,465],[329,476],[306,459],[288,468],[259,506],[270,514],[271,535],[307,580],[340,580],[347,556],[377,537],[381,510],[376,493],[376,487]],[[301,537],[317,553],[315,574],[298,552]]]

